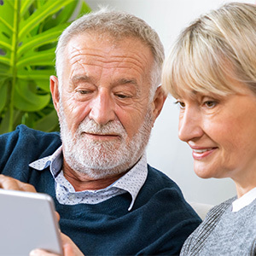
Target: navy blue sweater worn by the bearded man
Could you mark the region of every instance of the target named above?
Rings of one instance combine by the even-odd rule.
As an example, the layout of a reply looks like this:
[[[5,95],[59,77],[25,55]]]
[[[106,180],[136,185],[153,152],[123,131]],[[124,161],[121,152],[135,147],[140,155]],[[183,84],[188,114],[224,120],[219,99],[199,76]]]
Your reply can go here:
[[[49,168],[38,172],[28,166],[53,154],[60,145],[58,133],[20,125],[0,136],[0,172],[51,195],[61,215],[61,231],[85,255],[177,255],[183,241],[201,223],[177,184],[151,166],[130,212],[128,193],[96,205],[61,205],[55,198],[55,180]]]

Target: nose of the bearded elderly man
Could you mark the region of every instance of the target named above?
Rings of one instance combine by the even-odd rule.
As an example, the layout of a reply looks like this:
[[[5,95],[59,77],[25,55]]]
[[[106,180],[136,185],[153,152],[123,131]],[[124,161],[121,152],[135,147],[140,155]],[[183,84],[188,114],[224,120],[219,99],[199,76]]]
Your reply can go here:
[[[115,119],[114,102],[106,90],[99,91],[90,102],[89,118],[94,119],[98,125],[106,125]]]

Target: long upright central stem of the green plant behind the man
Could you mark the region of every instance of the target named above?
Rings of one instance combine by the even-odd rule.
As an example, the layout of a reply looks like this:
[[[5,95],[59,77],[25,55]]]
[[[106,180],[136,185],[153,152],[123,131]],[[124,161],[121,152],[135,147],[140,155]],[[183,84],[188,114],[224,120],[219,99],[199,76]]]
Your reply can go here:
[[[11,83],[11,93],[9,101],[9,131],[13,131],[14,125],[14,112],[15,112],[15,85],[17,82],[17,49],[19,44],[19,23],[20,23],[20,0],[15,0],[15,14],[14,14],[14,32],[12,37],[12,51],[11,51],[11,67],[12,67],[12,83]]]

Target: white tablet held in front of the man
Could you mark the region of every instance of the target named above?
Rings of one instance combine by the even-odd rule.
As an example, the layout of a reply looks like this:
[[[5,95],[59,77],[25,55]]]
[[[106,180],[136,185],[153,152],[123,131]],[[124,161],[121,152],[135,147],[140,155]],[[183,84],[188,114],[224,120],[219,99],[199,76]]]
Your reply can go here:
[[[0,255],[28,256],[35,248],[62,255],[52,198],[0,189]]]

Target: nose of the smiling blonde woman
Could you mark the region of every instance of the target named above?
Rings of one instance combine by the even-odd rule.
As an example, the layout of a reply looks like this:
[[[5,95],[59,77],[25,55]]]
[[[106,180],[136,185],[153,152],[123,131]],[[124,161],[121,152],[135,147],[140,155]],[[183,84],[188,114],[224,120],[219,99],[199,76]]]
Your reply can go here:
[[[180,113],[178,124],[178,137],[183,142],[189,142],[203,135],[201,127],[201,113],[199,110],[186,108]]]

